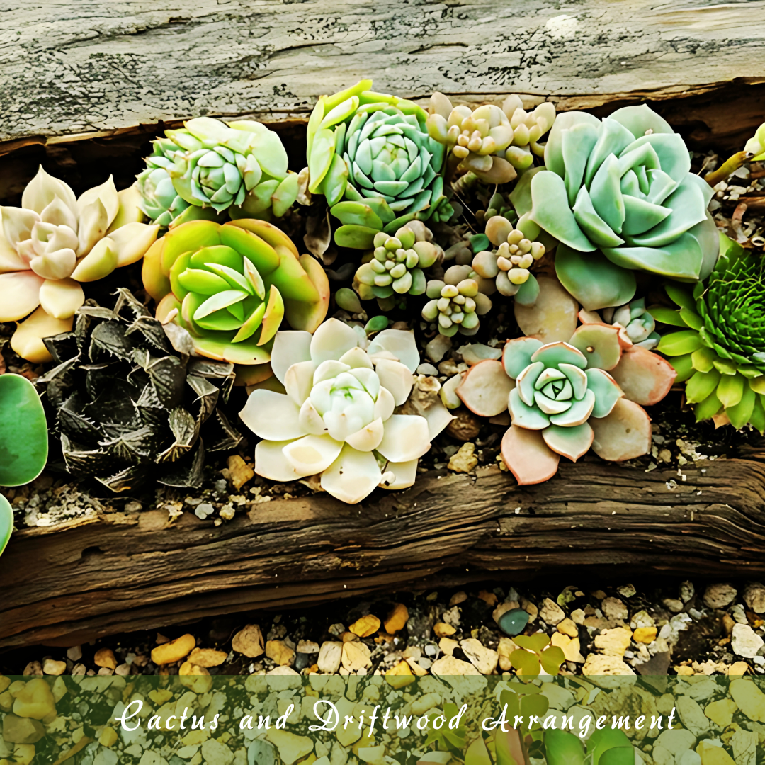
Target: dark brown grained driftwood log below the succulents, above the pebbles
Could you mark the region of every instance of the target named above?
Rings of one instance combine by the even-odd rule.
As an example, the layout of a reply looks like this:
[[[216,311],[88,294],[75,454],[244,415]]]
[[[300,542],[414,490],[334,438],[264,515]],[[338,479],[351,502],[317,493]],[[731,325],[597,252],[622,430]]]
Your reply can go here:
[[[319,494],[220,527],[111,513],[18,532],[0,559],[0,647],[67,645],[213,614],[575,568],[765,573],[765,450],[645,472],[588,458],[539,486],[496,468],[422,475],[361,506]],[[497,573],[502,571],[502,573]]]

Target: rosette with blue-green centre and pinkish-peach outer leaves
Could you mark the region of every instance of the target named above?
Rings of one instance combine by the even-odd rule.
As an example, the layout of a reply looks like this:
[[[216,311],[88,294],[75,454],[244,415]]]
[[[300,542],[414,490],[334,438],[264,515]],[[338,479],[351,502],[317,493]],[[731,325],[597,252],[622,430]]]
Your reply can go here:
[[[539,281],[552,294],[560,291],[555,280]],[[538,337],[509,340],[501,362],[471,366],[457,388],[478,415],[509,409],[502,458],[520,484],[548,480],[560,457],[577,461],[590,448],[609,461],[646,454],[651,425],[643,405],[663,399],[675,379],[666,360],[634,345],[619,324],[591,321],[563,340],[571,310],[563,316],[549,310],[550,302],[543,296],[541,308],[524,317]]]

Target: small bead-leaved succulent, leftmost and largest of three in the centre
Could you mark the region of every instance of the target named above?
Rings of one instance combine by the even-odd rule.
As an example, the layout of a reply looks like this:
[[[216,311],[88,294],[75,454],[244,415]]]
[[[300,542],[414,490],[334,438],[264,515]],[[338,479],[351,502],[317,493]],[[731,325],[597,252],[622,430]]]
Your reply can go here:
[[[432,239],[430,229],[419,220],[410,220],[393,235],[377,233],[375,249],[353,278],[360,298],[422,295],[426,285],[423,269],[444,258],[443,250]]]

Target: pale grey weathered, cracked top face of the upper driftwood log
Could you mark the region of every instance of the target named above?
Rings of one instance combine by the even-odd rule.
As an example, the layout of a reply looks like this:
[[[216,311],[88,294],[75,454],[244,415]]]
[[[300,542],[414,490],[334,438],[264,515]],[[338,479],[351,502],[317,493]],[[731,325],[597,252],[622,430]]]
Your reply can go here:
[[[0,140],[403,96],[594,107],[765,81],[763,0],[0,2]],[[531,101],[534,98],[530,99]]]

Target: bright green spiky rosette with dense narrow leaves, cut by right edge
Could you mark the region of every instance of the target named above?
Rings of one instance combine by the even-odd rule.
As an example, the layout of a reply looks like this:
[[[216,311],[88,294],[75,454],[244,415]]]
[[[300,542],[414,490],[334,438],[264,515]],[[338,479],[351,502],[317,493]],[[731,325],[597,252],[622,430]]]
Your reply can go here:
[[[763,260],[721,235],[721,257],[706,285],[693,293],[667,285],[669,308],[652,307],[663,324],[683,327],[662,336],[685,382],[685,399],[697,420],[725,415],[734,428],[765,431],[765,272]]]

